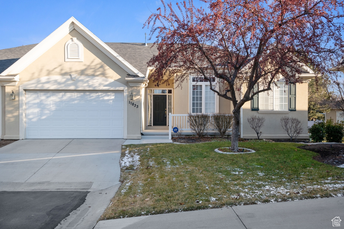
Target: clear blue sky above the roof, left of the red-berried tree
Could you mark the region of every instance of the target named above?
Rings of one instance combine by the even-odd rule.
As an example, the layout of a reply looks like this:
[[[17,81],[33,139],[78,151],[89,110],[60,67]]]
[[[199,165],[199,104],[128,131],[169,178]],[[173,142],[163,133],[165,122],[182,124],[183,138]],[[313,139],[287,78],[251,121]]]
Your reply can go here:
[[[104,42],[142,42],[160,0],[1,0],[0,49],[41,42],[71,16]]]

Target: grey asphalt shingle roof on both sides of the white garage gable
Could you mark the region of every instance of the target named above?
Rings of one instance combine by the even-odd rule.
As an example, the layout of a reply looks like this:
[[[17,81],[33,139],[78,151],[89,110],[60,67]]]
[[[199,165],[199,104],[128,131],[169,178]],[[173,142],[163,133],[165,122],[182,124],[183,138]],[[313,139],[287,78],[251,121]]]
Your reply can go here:
[[[134,68],[140,71],[143,75],[147,72],[147,62],[153,56],[158,54],[156,46],[151,48],[152,43],[144,46],[142,43],[105,43],[112,50],[114,50],[123,59],[129,62]],[[30,51],[37,44],[23,45],[15,48],[7,48],[0,50],[0,72],[9,68],[15,61],[19,60],[28,51]]]

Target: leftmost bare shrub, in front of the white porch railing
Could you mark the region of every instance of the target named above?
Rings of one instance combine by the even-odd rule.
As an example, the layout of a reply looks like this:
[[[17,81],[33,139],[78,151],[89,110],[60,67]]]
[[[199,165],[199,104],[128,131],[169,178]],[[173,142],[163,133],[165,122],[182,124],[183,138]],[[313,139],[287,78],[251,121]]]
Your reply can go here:
[[[210,115],[203,113],[187,113],[187,117],[189,118],[191,131],[199,138],[203,137],[204,131],[208,127]]]

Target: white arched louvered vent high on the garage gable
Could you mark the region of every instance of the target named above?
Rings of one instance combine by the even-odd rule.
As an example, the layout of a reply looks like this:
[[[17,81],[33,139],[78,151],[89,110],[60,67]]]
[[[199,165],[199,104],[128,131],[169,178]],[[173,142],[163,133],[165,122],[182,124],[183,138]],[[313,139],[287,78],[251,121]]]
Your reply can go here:
[[[84,47],[75,37],[65,44],[65,61],[84,61]]]

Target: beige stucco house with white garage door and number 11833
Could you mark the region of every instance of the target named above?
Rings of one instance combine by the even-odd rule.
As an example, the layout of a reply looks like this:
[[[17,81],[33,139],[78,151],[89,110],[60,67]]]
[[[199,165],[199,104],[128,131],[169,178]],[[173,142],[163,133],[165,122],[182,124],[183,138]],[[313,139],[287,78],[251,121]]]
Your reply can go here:
[[[157,53],[151,46],[104,43],[72,17],[39,44],[0,50],[1,139],[140,139],[187,128],[188,112],[231,113],[231,101],[200,77],[190,76],[182,88],[173,79],[159,87],[150,82],[154,69],[146,63]],[[299,138],[308,138],[307,82],[314,73],[305,67],[301,77],[302,84],[290,88],[281,80],[245,103],[240,137],[257,137],[246,121],[255,114],[266,117],[261,138],[289,138],[281,116],[304,121]]]

